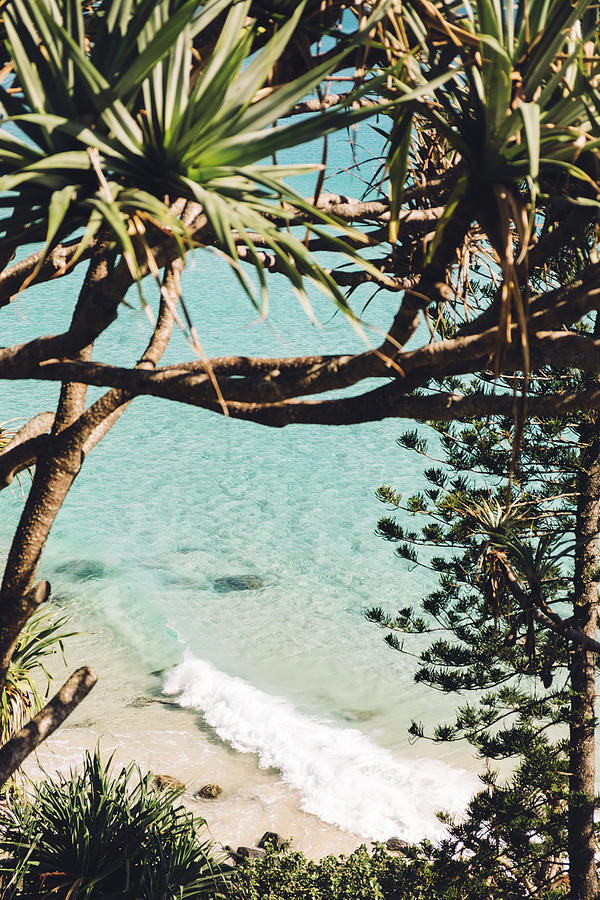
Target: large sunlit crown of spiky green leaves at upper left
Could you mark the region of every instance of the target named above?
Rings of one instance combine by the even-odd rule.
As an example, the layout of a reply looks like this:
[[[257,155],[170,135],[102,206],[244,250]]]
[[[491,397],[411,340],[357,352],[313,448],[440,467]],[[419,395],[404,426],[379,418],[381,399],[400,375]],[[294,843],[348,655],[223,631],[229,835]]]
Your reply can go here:
[[[168,204],[185,197],[201,203],[210,242],[235,271],[234,233],[260,270],[251,236],[258,233],[301,295],[309,277],[346,307],[327,272],[278,223],[291,217],[293,204],[325,239],[331,229],[343,237],[348,227],[283,183],[283,175],[305,167],[258,164],[370,110],[353,109],[350,98],[309,121],[273,127],[341,57],[265,88],[304,3],[255,53],[250,10],[249,0],[208,0],[200,7],[197,0],[102,0],[94,6],[90,39],[79,0],[8,0],[4,24],[15,80],[12,89],[0,88],[0,207],[7,212],[0,244],[45,240],[49,248],[80,228],[85,244],[107,228],[137,277],[141,232],[168,231],[182,248],[189,244]],[[194,64],[194,41],[225,14],[212,54]],[[359,259],[339,240],[332,238],[331,248]]]

